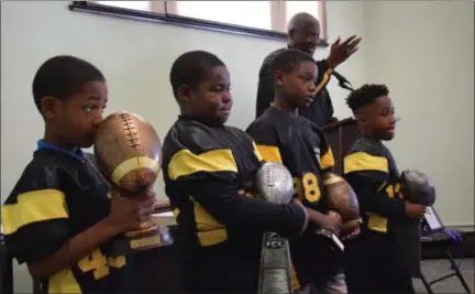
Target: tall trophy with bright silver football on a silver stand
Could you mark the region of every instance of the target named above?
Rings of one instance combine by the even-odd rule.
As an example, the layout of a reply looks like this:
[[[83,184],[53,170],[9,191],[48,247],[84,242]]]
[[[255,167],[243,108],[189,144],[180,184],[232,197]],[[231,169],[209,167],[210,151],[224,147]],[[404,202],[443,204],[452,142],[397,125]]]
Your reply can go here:
[[[261,197],[275,204],[288,204],[294,194],[290,172],[284,165],[266,162],[257,171],[255,188]],[[265,232],[261,247],[259,294],[292,293],[288,240]]]

